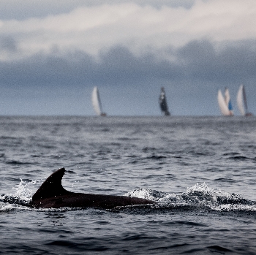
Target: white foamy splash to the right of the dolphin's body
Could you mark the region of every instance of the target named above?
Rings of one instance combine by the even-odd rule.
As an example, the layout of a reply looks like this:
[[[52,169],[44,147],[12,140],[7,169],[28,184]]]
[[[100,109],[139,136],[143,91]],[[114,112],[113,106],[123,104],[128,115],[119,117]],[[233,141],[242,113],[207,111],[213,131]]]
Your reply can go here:
[[[206,183],[196,184],[182,193],[168,194],[151,189],[135,189],[124,194],[159,202],[161,207],[211,209],[217,211],[256,211],[256,203],[239,194],[211,189]]]

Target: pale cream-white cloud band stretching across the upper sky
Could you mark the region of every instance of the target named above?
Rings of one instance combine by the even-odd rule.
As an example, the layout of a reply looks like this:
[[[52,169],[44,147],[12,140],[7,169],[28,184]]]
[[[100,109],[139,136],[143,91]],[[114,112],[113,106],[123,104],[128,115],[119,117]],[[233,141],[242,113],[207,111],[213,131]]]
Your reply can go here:
[[[68,13],[25,20],[1,20],[1,37],[15,40],[17,51],[1,60],[23,58],[53,47],[83,50],[97,55],[113,45],[134,53],[172,45],[181,47],[195,39],[221,45],[255,39],[256,7],[253,0],[195,1],[185,7],[154,7],[135,2],[78,6]]]

